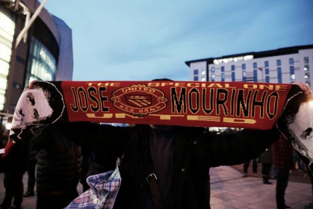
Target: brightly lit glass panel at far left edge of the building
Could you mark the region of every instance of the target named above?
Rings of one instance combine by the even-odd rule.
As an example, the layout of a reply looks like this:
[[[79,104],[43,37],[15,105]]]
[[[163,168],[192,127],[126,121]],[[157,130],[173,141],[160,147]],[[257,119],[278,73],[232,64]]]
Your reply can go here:
[[[0,111],[4,109],[12,56],[15,20],[0,7]]]

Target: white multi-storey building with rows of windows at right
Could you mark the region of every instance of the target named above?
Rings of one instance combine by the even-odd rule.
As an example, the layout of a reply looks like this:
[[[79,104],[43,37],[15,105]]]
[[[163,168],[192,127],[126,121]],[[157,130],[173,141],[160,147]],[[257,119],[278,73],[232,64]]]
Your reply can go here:
[[[313,84],[313,45],[186,61],[192,81]],[[312,76],[310,76],[312,75]]]

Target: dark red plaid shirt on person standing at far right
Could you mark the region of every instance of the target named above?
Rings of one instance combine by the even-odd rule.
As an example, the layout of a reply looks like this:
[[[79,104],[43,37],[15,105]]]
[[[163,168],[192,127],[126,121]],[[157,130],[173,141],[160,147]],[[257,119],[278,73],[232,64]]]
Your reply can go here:
[[[273,163],[277,168],[294,169],[292,146],[283,135],[280,135],[279,140],[273,145]]]

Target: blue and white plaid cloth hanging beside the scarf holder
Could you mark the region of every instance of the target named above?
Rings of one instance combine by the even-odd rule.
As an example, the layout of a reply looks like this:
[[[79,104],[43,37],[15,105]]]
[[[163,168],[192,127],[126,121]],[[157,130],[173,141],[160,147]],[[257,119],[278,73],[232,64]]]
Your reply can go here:
[[[64,209],[111,209],[121,185],[121,175],[118,167],[103,174],[96,174],[87,178],[90,186],[86,192],[74,199]]]

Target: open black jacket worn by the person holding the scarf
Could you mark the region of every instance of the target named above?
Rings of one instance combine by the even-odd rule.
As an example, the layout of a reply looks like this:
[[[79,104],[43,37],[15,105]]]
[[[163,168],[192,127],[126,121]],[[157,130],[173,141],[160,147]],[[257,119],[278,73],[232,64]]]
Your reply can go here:
[[[52,125],[53,126],[53,125]],[[146,158],[150,155],[150,127],[113,127],[94,123],[58,125],[77,144],[93,151],[124,157],[122,184],[114,208],[141,208],[146,186]],[[50,126],[42,130],[49,134]],[[210,208],[209,168],[257,158],[278,136],[277,130],[243,130],[239,134],[210,135],[204,128],[175,127],[175,208]],[[278,138],[278,137],[277,137]]]

